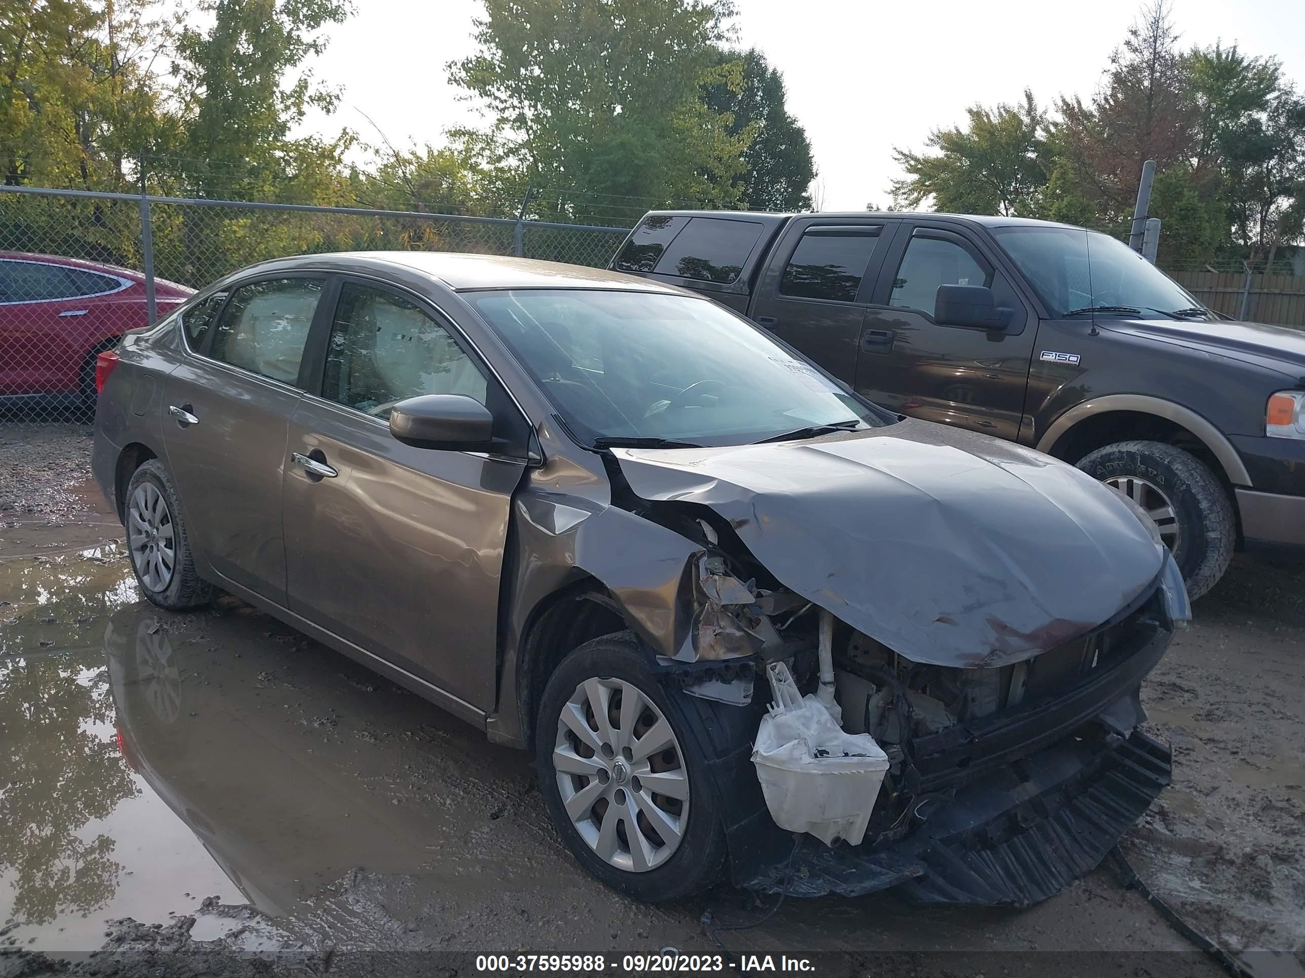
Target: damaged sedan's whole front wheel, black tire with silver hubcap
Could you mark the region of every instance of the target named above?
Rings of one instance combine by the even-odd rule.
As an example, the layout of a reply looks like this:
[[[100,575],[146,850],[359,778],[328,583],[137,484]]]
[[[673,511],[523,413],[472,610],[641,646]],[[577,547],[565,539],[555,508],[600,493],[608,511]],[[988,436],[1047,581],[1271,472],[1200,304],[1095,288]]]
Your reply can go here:
[[[705,759],[675,705],[622,631],[562,660],[535,728],[540,790],[566,848],[646,902],[706,889],[726,857]]]

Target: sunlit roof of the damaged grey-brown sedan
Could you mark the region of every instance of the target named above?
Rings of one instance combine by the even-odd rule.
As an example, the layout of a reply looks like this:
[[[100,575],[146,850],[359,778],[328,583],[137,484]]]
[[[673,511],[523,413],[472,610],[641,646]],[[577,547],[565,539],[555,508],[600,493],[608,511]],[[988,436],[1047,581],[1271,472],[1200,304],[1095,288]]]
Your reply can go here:
[[[615,235],[613,235],[615,239]],[[613,240],[613,248],[616,241]],[[278,258],[254,266],[260,271],[291,269],[326,269],[330,271],[403,269],[423,273],[454,291],[484,288],[612,288],[668,295],[694,295],[675,286],[651,282],[606,269],[581,265],[514,258],[501,254],[463,254],[457,252],[330,252]],[[243,269],[238,274],[245,274]]]

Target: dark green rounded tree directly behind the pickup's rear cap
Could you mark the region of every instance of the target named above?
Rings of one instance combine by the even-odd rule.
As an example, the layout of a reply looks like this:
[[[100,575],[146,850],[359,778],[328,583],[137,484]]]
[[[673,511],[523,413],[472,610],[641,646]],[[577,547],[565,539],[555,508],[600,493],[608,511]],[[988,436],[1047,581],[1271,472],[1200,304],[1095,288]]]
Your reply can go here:
[[[757,48],[740,57],[722,51],[720,63],[741,61],[741,83],[707,89],[707,108],[728,115],[729,132],[743,136],[743,173],[735,179],[739,203],[748,210],[810,210],[816,179],[806,130],[790,113],[784,78]]]

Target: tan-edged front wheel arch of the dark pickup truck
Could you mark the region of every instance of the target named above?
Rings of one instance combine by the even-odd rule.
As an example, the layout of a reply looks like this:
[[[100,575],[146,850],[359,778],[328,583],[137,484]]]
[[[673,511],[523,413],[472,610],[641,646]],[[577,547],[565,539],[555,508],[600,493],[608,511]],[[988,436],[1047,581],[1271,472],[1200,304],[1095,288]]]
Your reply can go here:
[[[1246,466],[1223,432],[1191,408],[1144,394],[1084,400],[1057,417],[1035,447],[1075,463],[1105,445],[1137,438],[1188,449],[1228,488],[1253,485]]]

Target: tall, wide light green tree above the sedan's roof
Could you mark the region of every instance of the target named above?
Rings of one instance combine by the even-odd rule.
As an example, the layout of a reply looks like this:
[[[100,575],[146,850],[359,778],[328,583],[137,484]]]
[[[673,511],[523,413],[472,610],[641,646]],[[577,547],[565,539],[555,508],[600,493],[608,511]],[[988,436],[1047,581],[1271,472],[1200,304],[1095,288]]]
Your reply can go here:
[[[746,138],[711,111],[728,0],[484,0],[479,50],[449,65],[502,155],[551,207],[568,193],[629,207],[737,203]],[[735,74],[737,74],[735,72]]]

